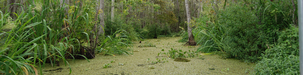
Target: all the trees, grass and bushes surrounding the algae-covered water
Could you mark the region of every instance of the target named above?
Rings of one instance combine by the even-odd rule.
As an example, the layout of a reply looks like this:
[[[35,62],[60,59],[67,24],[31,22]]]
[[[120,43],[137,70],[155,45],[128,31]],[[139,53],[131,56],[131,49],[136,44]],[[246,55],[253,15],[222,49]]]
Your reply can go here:
[[[190,22],[185,1],[0,0],[0,74],[133,54],[148,38],[187,42],[188,25],[197,52],[257,63],[251,74],[299,74],[296,0],[189,0]]]

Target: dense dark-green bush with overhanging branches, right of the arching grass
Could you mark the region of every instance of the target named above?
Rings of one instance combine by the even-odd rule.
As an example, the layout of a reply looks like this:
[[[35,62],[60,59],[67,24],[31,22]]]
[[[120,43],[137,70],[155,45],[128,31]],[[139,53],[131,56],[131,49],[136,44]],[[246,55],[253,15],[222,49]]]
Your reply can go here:
[[[267,49],[267,45],[274,44],[277,40],[279,36],[277,31],[290,27],[291,15],[285,13],[291,13],[291,11],[283,8],[278,9],[279,12],[276,13],[270,12],[277,10],[271,8],[286,7],[287,4],[277,1],[260,1],[260,3],[264,5],[249,4],[247,6],[243,5],[246,4],[245,2],[239,1],[231,3],[224,11],[221,11],[218,20],[226,30],[222,42],[229,58],[250,62],[259,61],[258,57]],[[258,6],[258,8],[250,6]]]

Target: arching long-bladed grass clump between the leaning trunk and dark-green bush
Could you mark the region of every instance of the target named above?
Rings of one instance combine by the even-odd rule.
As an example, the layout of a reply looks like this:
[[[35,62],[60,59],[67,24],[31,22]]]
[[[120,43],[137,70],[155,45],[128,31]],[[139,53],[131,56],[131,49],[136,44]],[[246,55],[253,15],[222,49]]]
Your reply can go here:
[[[221,25],[210,23],[199,26],[197,29],[199,32],[195,36],[198,39],[197,44],[200,44],[197,52],[224,52],[222,40],[225,32]]]

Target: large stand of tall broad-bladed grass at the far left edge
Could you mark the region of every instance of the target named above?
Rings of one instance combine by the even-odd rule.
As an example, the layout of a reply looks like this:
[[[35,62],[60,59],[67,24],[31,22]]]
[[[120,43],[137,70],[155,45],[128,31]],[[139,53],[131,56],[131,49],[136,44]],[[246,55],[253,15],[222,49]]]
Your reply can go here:
[[[64,8],[67,6],[60,7],[58,0],[35,1],[35,4],[28,1],[27,5],[28,9],[14,13],[16,19],[10,18],[8,12],[0,12],[0,74],[37,74],[36,65],[42,74],[41,67],[45,63],[54,66],[59,61],[69,66],[66,58],[74,59],[74,55],[78,55],[74,53],[76,47],[82,45],[77,38],[71,37],[69,26],[64,26],[67,24]],[[84,34],[89,40],[87,33],[73,32],[73,35]]]

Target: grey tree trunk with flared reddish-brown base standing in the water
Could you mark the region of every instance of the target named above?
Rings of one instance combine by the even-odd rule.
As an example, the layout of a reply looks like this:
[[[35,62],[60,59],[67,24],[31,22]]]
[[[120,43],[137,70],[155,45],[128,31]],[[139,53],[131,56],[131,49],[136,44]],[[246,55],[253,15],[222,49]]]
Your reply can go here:
[[[187,32],[188,32],[188,42],[187,44],[190,46],[195,46],[197,43],[194,40],[194,35],[191,32],[191,25],[190,25],[190,13],[188,7],[188,0],[185,0],[185,8],[186,8],[186,16],[187,16]]]

